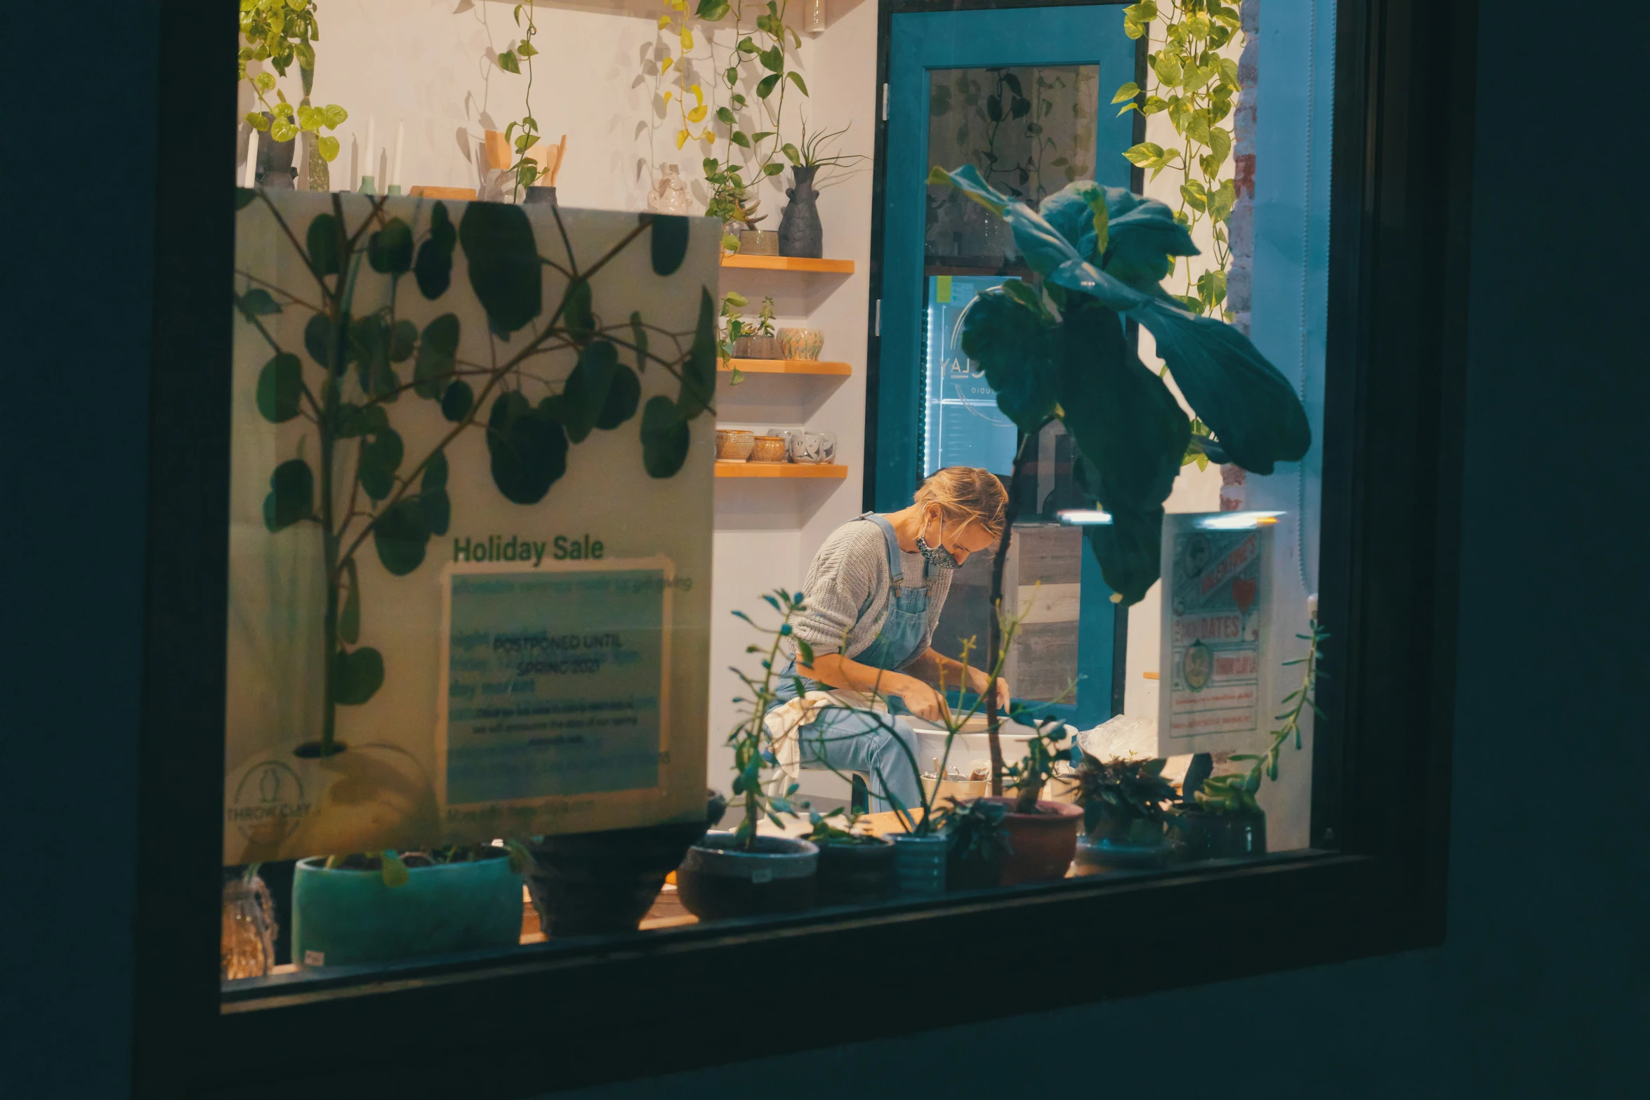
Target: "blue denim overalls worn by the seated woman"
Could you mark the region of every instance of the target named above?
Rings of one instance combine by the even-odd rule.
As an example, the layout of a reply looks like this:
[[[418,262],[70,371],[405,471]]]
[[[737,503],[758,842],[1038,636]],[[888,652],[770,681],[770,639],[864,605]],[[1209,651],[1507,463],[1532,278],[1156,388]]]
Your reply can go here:
[[[851,660],[871,668],[896,671],[901,665],[924,651],[927,635],[927,589],[903,589],[904,572],[899,567],[899,541],[894,538],[894,526],[883,516],[868,511],[861,519],[874,523],[883,529],[883,541],[888,544],[888,576],[891,592],[888,617],[861,653]],[[861,609],[861,613],[865,609]],[[858,625],[858,623],[855,623]],[[792,658],[779,676],[774,693],[774,706],[784,706],[797,698],[797,663]],[[802,679],[802,691],[830,691],[817,679]],[[889,699],[889,707],[904,712],[899,698]],[[771,707],[772,709],[772,707]],[[797,731],[802,745],[802,767],[835,767],[838,772],[865,772],[871,777],[871,810],[891,810],[881,798],[888,790],[904,806],[914,806],[921,800],[916,775],[911,773],[911,760],[916,759],[916,731],[903,717],[894,714],[874,714],[850,707],[828,706],[817,711],[815,719]],[[904,740],[911,755],[896,744],[896,737]],[[823,745],[820,744],[823,739]],[[823,754],[823,755],[822,755]]]

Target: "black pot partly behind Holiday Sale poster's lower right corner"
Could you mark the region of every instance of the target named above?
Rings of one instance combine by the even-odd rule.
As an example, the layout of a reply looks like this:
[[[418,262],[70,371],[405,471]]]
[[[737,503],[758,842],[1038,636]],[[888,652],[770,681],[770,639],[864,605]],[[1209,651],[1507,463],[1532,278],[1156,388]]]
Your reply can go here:
[[[635,932],[665,876],[724,808],[721,795],[713,795],[703,821],[546,836],[530,844],[526,889],[544,935]]]

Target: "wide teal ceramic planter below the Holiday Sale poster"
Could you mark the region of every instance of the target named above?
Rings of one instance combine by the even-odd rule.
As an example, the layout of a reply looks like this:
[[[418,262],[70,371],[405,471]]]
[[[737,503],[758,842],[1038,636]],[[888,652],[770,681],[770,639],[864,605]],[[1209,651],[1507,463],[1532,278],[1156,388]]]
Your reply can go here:
[[[292,877],[292,961],[383,963],[521,942],[521,876],[508,859],[409,867],[404,886],[378,871],[327,871],[300,859]]]

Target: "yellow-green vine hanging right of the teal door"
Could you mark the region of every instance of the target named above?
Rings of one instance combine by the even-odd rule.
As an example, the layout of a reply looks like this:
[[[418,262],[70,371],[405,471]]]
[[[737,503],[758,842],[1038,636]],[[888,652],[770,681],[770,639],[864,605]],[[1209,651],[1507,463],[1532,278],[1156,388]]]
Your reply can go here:
[[[1181,257],[1183,294],[1175,299],[1198,315],[1231,320],[1226,310],[1226,270],[1231,266],[1228,221],[1238,203],[1234,176],[1228,170],[1233,132],[1223,127],[1241,91],[1238,63],[1221,56],[1241,33],[1238,7],[1223,0],[1157,0],[1124,8],[1124,33],[1145,38],[1152,81],[1142,89],[1134,81],[1117,89],[1119,114],[1138,110],[1142,115],[1168,114],[1180,139],[1178,147],[1140,142],[1124,157],[1138,168],[1160,176],[1173,168],[1180,175],[1180,208],[1175,219],[1196,229],[1211,223],[1214,249],[1211,266],[1193,275],[1190,257]],[[1226,173],[1226,175],[1223,175]],[[1170,275],[1175,272],[1172,270]]]

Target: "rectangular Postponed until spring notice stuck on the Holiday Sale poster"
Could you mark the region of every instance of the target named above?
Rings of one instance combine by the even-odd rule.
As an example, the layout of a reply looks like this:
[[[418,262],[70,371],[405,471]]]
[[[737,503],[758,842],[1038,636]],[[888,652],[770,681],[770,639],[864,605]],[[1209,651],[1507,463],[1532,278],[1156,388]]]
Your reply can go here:
[[[667,557],[447,567],[436,757],[449,826],[536,834],[589,795],[658,795],[673,581]]]

